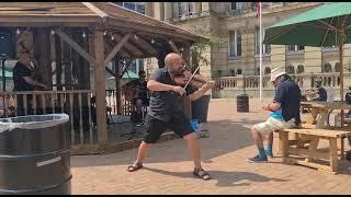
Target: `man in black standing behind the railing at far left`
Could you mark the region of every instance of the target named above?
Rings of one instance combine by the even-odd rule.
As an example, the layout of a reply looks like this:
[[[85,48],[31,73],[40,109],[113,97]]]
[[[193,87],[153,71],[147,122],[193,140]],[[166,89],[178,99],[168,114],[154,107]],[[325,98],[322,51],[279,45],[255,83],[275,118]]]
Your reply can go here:
[[[31,51],[26,47],[20,46],[18,57],[19,61],[15,63],[13,68],[13,91],[34,91],[34,86],[43,86],[44,89],[46,89],[46,86],[43,83],[39,83],[32,78],[33,70],[31,68]],[[26,114],[32,114],[33,95],[27,95],[26,102]],[[25,115],[23,95],[18,95],[18,115]]]

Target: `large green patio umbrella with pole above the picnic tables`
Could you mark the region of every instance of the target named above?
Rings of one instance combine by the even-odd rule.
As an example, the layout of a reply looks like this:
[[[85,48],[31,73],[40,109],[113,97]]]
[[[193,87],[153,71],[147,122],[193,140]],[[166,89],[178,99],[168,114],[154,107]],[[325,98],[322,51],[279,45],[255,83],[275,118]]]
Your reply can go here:
[[[351,43],[351,2],[325,3],[265,30],[264,44],[339,47],[340,96],[343,101],[342,47]]]

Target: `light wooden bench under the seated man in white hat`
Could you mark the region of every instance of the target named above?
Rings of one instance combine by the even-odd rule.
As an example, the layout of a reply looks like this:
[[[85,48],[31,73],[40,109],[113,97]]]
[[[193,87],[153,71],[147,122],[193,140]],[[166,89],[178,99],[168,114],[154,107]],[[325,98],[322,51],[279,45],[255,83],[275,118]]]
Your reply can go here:
[[[351,131],[347,130],[331,130],[331,129],[317,129],[317,128],[298,128],[298,129],[283,129],[279,130],[280,149],[283,158],[283,163],[286,164],[301,164],[317,170],[328,171],[336,173],[339,170],[338,147],[337,139],[341,139],[341,159],[344,157],[343,139],[351,136]],[[288,134],[302,136],[304,142],[292,143],[288,140]],[[318,150],[318,142],[320,139],[329,141],[329,151],[325,152]],[[304,143],[309,141],[309,146],[305,147]],[[296,144],[296,147],[291,147]],[[290,154],[303,155],[305,160],[299,160],[290,157]],[[314,160],[327,160],[329,165],[315,163]]]

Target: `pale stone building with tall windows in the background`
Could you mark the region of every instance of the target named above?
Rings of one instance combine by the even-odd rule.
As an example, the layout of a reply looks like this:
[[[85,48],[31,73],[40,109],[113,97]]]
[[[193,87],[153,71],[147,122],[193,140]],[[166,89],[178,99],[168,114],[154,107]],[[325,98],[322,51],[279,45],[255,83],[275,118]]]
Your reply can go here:
[[[262,2],[262,27],[269,27],[319,4],[321,3]],[[205,56],[211,61],[211,67],[201,68],[204,76],[224,79],[259,74],[259,19],[256,2],[146,2],[145,14],[193,32],[208,32],[222,40],[219,46],[206,50]],[[262,50],[264,74],[275,67],[285,68],[291,74],[339,72],[341,68],[336,47],[272,45],[263,46]],[[346,62],[350,62],[350,46],[346,45]],[[150,71],[157,67],[157,60],[147,59],[145,65]],[[313,85],[313,80],[306,81],[307,88]],[[328,81],[330,85],[330,81],[335,79],[326,81],[326,85]]]

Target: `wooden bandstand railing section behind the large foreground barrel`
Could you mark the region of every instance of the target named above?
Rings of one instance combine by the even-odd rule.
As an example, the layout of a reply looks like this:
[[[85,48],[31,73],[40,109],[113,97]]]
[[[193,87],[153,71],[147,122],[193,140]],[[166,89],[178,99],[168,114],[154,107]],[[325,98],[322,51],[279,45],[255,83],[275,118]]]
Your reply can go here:
[[[94,95],[91,90],[2,92],[0,113],[2,117],[66,113],[70,117],[71,144],[95,143]],[[21,102],[23,107],[18,106]]]

